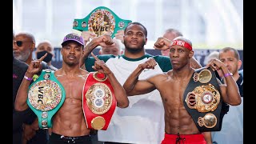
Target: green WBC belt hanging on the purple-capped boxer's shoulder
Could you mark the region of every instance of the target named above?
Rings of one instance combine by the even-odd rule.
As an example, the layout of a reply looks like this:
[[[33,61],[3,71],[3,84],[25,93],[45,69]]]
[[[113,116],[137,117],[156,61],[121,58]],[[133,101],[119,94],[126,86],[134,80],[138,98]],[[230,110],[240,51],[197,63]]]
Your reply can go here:
[[[38,116],[39,127],[48,129],[52,127],[51,118],[62,106],[65,98],[66,92],[55,78],[54,71],[46,69],[30,85],[26,103]]]

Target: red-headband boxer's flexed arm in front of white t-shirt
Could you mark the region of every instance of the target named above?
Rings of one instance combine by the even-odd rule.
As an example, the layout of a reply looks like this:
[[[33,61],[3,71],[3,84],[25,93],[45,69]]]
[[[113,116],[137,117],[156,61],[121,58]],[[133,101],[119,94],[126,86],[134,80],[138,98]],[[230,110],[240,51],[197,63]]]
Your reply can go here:
[[[149,58],[146,62],[139,64],[134,72],[130,74],[126,79],[126,82],[123,84],[128,96],[146,94],[156,89],[154,84],[149,82],[148,79],[138,80],[138,76],[143,70],[154,69],[154,66],[156,66],[154,58]]]

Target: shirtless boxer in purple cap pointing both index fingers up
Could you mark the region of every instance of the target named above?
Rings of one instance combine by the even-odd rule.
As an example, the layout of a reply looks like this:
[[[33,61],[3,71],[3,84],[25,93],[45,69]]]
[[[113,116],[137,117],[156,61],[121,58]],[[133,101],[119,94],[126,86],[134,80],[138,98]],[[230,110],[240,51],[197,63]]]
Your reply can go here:
[[[75,34],[67,34],[62,42],[62,68],[54,72],[55,78],[62,84],[66,91],[66,99],[60,109],[54,114],[52,134],[50,136],[50,144],[62,143],[91,143],[90,129],[86,126],[86,120],[82,111],[82,91],[88,76],[86,70],[82,70],[79,66],[79,60],[82,57],[84,47],[83,38]],[[42,59],[46,58],[46,54],[39,59],[30,63],[28,70],[23,78],[22,85],[19,87],[15,109],[26,110],[28,105],[26,99],[30,80],[35,73],[38,73],[41,67]],[[117,106],[127,107],[129,104],[125,90],[114,77],[112,71],[102,61],[94,63],[94,69],[106,74],[116,94]]]

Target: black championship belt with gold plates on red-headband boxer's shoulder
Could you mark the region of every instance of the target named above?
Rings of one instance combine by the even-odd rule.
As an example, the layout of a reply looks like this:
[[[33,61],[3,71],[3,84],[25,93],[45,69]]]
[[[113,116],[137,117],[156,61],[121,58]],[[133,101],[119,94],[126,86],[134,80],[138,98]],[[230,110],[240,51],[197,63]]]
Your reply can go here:
[[[221,130],[222,97],[216,75],[211,68],[195,70],[184,92],[184,106],[198,130]]]

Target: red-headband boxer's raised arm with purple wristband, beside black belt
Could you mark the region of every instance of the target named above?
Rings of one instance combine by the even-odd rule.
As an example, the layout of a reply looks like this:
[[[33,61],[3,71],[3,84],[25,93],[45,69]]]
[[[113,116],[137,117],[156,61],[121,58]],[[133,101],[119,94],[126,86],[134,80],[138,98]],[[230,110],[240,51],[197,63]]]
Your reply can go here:
[[[213,70],[221,70],[224,74],[226,84],[220,85],[223,101],[232,106],[240,105],[241,96],[238,85],[234,81],[233,74],[230,73],[225,64],[218,59],[213,59],[207,66],[210,66]]]

